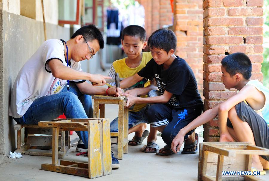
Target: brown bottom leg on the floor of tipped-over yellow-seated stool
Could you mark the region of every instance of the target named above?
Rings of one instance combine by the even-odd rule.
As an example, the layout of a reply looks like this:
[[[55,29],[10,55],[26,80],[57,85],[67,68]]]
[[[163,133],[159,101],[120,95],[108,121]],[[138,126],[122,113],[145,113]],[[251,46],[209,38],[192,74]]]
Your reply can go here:
[[[87,168],[78,168],[78,167],[70,167],[64,165],[51,165],[43,163],[41,165],[41,170],[53,171],[62,174],[70,174],[81,177],[88,177],[88,169]]]

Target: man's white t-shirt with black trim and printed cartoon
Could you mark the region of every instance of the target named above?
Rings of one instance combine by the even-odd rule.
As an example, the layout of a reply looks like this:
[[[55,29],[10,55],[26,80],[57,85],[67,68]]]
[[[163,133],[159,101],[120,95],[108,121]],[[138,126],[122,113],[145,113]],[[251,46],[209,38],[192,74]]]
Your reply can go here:
[[[28,59],[19,71],[12,88],[9,107],[10,116],[20,118],[35,99],[62,91],[67,81],[52,76],[48,62],[52,59],[58,59],[63,65],[67,66],[64,48],[63,40],[49,39]],[[69,67],[70,65],[72,69],[82,71],[80,62],[75,62],[71,59]],[[73,80],[76,83],[84,81]]]

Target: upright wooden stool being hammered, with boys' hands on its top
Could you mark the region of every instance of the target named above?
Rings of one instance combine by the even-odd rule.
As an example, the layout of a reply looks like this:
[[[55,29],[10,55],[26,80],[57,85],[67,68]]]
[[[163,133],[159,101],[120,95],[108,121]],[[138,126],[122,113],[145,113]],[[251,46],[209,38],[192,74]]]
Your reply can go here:
[[[111,138],[111,143],[118,143],[118,157],[122,159],[123,153],[128,153],[128,108],[124,108],[126,105],[126,96],[112,97],[94,95],[91,97],[94,99],[94,111],[93,118],[105,118],[105,104],[117,104],[119,105],[119,129],[118,132],[111,132],[111,136],[117,136],[116,139]],[[100,116],[99,116],[100,109]]]

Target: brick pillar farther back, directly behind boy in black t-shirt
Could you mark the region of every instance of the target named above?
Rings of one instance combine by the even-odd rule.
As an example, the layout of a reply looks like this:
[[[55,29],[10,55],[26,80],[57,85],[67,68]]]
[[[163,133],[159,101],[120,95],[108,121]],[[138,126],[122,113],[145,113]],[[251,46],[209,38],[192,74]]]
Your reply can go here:
[[[192,68],[202,92],[203,86],[202,0],[174,0],[174,32],[178,38],[176,55]]]

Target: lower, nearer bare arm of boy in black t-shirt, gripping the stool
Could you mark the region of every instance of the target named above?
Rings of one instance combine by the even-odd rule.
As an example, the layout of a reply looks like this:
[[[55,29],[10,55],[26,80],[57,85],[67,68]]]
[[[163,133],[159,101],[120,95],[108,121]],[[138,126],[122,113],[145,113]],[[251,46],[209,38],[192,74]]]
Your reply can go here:
[[[171,97],[172,93],[168,91],[164,91],[163,95],[155,96],[155,97],[135,97],[130,94],[123,93],[124,96],[127,97],[127,103],[125,107],[131,107],[133,104],[142,104],[142,103],[167,103]]]

